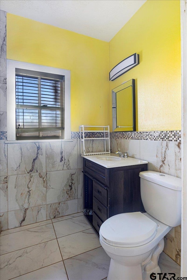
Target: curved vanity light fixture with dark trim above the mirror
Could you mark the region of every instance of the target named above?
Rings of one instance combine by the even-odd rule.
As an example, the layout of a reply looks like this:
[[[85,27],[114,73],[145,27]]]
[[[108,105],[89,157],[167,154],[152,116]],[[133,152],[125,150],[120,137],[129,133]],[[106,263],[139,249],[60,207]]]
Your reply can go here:
[[[134,53],[118,63],[109,73],[109,80],[114,81],[139,64],[139,54]]]

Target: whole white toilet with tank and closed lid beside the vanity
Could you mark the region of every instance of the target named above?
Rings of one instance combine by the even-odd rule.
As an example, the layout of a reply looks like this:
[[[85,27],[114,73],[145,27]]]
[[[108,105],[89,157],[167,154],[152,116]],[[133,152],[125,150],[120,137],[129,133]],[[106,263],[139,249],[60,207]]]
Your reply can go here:
[[[100,228],[101,246],[111,258],[108,280],[150,279],[160,273],[164,236],[181,224],[181,179],[155,171],[140,172],[146,213],[122,213]]]

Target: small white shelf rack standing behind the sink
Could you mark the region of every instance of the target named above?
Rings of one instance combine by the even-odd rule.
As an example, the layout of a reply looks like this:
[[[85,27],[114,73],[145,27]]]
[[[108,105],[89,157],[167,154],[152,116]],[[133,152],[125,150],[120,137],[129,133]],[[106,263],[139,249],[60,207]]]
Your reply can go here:
[[[79,129],[81,155],[98,155],[110,153],[109,125],[80,125]]]

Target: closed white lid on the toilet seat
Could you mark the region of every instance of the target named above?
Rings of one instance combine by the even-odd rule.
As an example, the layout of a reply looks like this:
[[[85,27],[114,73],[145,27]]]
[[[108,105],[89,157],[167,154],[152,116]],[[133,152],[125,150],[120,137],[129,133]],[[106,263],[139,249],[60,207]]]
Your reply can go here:
[[[151,241],[157,224],[141,212],[123,213],[110,217],[100,227],[104,242],[119,247],[136,247]]]

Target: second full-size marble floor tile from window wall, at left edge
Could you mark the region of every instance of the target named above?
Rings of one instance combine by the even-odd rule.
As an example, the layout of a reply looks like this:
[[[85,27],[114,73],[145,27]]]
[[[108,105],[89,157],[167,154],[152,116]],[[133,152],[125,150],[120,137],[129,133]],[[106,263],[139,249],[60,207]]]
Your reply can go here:
[[[60,261],[57,240],[7,253],[1,256],[1,279],[9,280]]]

